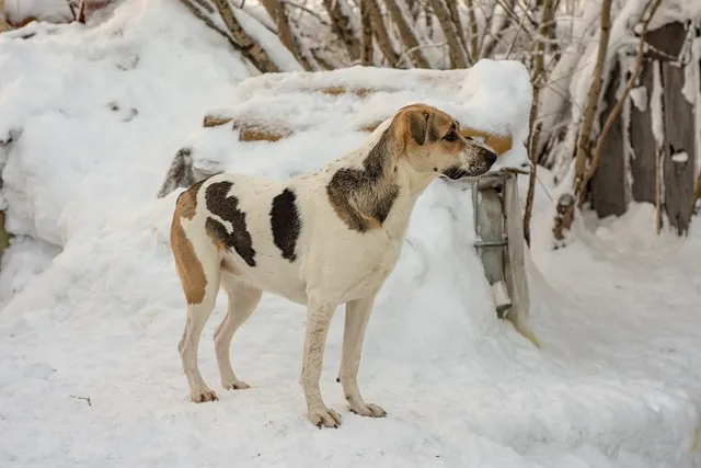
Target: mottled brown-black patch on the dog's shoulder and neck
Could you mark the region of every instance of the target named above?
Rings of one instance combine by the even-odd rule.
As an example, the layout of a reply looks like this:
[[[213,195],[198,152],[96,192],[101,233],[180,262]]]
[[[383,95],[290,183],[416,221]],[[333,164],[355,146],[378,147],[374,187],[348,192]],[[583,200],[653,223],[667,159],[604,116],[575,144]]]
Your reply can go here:
[[[363,169],[340,169],[326,185],[331,205],[353,230],[365,232],[374,225],[384,222],[399,195],[397,184],[383,180],[389,151],[389,132],[386,130],[363,161]],[[350,204],[352,198],[356,207]]]

